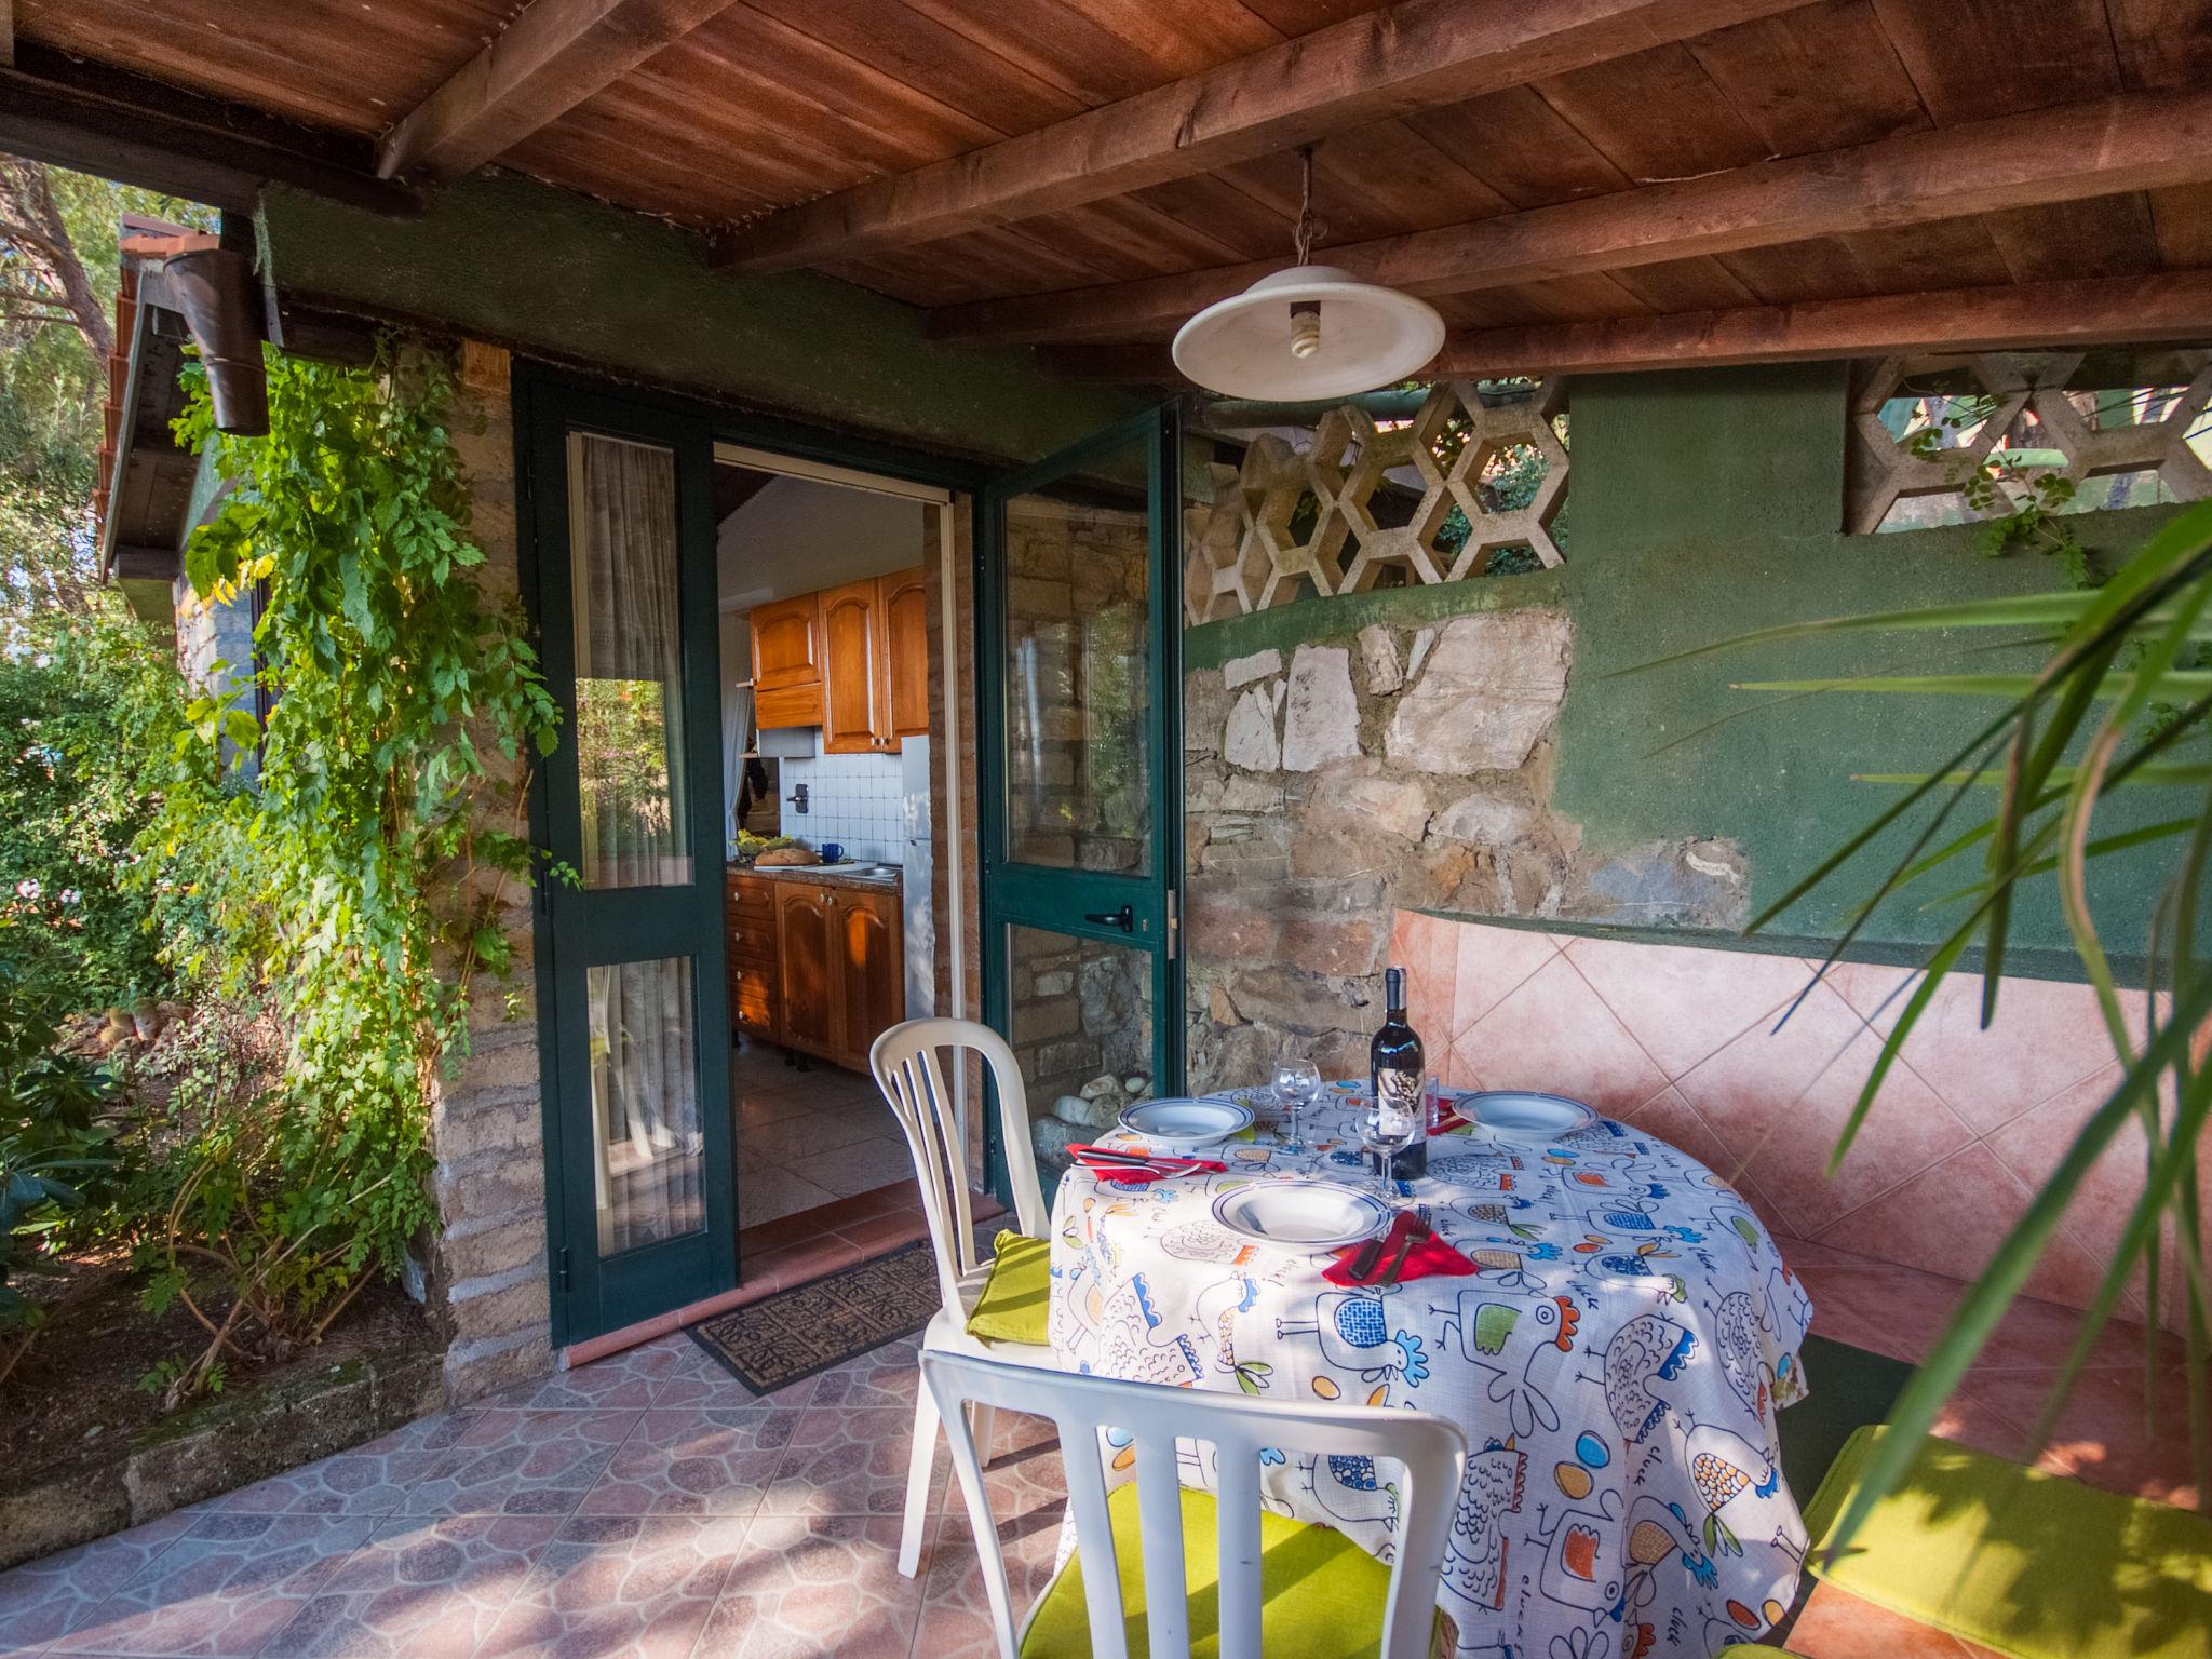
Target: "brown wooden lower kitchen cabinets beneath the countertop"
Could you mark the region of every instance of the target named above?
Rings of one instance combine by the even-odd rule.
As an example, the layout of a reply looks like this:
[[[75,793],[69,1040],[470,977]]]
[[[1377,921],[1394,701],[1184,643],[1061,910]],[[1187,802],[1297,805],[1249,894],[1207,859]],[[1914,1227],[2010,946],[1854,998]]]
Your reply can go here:
[[[898,889],[754,876],[774,887],[776,1042],[867,1071],[876,1037],[905,1020]]]

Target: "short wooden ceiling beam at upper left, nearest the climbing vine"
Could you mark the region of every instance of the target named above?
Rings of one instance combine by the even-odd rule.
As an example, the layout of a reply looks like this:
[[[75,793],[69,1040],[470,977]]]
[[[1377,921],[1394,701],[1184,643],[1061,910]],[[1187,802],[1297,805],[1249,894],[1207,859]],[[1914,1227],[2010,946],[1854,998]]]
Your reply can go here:
[[[376,170],[387,179],[451,179],[495,161],[730,2],[531,0],[489,46],[394,122],[378,144]]]

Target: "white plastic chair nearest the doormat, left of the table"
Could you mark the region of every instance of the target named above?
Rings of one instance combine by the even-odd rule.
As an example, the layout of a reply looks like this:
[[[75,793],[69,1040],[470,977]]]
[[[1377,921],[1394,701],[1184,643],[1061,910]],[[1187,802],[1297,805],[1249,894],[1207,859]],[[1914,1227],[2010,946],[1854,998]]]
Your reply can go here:
[[[898,1126],[907,1130],[914,1152],[914,1175],[922,1186],[922,1214],[929,1217],[929,1243],[938,1254],[938,1290],[945,1305],[922,1329],[922,1349],[956,1354],[989,1354],[1013,1365],[1057,1369],[1051,1347],[1029,1343],[984,1343],[967,1334],[975,1298],[991,1279],[991,1263],[975,1250],[975,1206],[969,1199],[967,1137],[953,1093],[947,1088],[938,1051],[953,1053],[953,1066],[967,1053],[982,1055],[998,1084],[1000,1133],[1006,1146],[1006,1175],[1013,1181],[1013,1214],[1031,1239],[1044,1239],[1051,1217],[1037,1188],[1037,1155],[1029,1144],[1029,1091],[1013,1048],[991,1026],[973,1020],[907,1020],[876,1037],[867,1064],[876,1086],[891,1104]],[[914,1451],[907,1464],[907,1522],[898,1535],[898,1571],[909,1579],[920,1571],[922,1528],[929,1522],[929,1482],[938,1460],[938,1405],[929,1389],[914,1400]],[[991,1444],[989,1409],[975,1418],[984,1449]]]

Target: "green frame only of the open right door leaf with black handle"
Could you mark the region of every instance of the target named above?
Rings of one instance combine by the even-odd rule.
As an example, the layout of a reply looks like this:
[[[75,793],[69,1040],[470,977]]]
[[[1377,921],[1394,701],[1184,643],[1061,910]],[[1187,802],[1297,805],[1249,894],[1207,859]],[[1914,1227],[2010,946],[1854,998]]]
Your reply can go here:
[[[1150,874],[1057,869],[1015,863],[1006,799],[1006,502],[1079,473],[1110,453],[1144,447],[1150,584],[1148,692],[1152,712]],[[1181,604],[1181,425],[1175,405],[1146,409],[1033,467],[991,480],[975,513],[975,799],[980,807],[982,1006],[1011,1037],[1009,927],[1137,947],[1152,958],[1152,1079],[1183,1091],[1183,628]],[[1130,929],[1099,918],[1128,907]],[[989,1079],[987,1079],[989,1084]],[[984,1113],[984,1179],[1013,1203],[1000,1113]]]

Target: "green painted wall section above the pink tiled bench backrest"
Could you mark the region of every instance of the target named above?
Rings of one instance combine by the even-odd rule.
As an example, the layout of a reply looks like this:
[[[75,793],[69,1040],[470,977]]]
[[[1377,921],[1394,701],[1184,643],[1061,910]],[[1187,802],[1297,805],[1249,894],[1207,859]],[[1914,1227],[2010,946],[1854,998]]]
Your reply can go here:
[[[1993,712],[1982,699],[1823,695],[1783,701],[1732,681],[2031,666],[2037,653],[1962,655],[1989,635],[1798,641],[1610,679],[1621,668],[1781,622],[2055,586],[2033,553],[1989,560],[1969,526],[1843,535],[1845,367],[1708,369],[1575,383],[1568,562],[1575,670],[1559,719],[1555,805],[1595,852],[1672,836],[1725,836],[1745,849],[1754,909],[1778,898],[1893,792],[1854,772],[1942,763]],[[2174,509],[2073,520],[2121,555]],[[1714,726],[1728,717],[1723,726]],[[2150,807],[2174,810],[2139,796]],[[2183,807],[2185,810],[2185,807]],[[2157,814],[2157,816],[2163,816]],[[2115,816],[2115,827],[2128,818]],[[1962,818],[1960,827],[1973,823]],[[1902,847],[1902,838],[1891,838]],[[1832,938],[1865,878],[1801,902],[1776,933]],[[2139,951],[2157,854],[2108,860],[2099,909],[2115,951]],[[1964,885],[1936,878],[1891,902],[1869,945],[1938,936],[1920,900]],[[2024,947],[2062,947],[2048,878],[2017,920]]]

